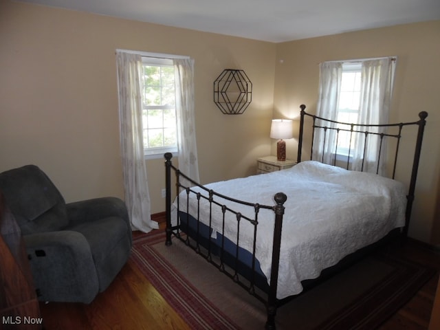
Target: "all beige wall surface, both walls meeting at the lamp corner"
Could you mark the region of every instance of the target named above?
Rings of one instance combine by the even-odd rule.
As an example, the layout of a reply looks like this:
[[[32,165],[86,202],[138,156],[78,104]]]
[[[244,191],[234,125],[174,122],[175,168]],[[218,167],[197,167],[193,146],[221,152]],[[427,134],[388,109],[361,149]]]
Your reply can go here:
[[[440,242],[433,227],[439,186],[440,22],[290,43],[265,43],[39,5],[0,1],[0,171],[37,164],[67,201],[123,197],[115,49],[195,58],[195,111],[202,183],[255,172],[275,153],[270,119],[314,111],[318,63],[398,56],[392,118],[429,112],[411,236]],[[212,84],[225,68],[253,83],[243,115],[223,115]],[[289,158],[296,140],[288,141]],[[162,159],[147,162],[152,211],[164,210]]]

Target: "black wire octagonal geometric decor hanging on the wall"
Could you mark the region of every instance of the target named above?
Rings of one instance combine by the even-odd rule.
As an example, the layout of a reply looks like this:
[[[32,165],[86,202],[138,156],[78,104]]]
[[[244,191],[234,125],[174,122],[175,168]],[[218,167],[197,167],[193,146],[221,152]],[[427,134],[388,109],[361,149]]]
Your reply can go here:
[[[252,101],[252,83],[243,70],[224,69],[214,81],[214,103],[225,115],[241,115]]]

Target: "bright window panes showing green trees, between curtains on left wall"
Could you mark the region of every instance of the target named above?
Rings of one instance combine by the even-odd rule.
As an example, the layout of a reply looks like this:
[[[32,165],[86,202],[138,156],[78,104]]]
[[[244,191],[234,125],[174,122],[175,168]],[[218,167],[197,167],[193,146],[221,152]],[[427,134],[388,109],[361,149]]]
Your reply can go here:
[[[177,117],[173,60],[142,57],[142,127],[144,155],[177,153]]]

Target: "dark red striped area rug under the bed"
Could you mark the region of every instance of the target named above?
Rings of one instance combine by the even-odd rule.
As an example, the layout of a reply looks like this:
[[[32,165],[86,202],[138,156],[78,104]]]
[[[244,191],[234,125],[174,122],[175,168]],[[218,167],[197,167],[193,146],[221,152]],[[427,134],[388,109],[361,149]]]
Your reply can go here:
[[[131,258],[191,329],[264,329],[265,306],[163,231],[137,237]],[[403,306],[434,270],[374,254],[278,308],[276,328],[377,328]]]

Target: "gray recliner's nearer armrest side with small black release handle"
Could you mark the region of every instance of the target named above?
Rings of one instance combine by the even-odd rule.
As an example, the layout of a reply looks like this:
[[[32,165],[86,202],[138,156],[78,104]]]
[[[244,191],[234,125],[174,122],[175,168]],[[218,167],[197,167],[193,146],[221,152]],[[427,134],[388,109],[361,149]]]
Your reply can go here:
[[[89,243],[70,230],[24,235],[39,300],[90,303],[98,294]]]

